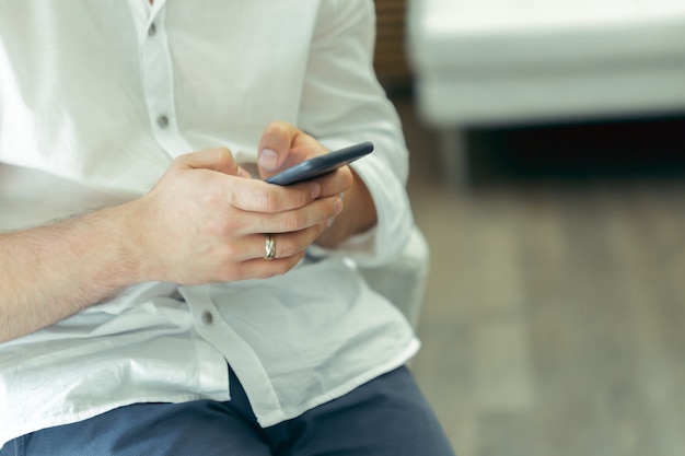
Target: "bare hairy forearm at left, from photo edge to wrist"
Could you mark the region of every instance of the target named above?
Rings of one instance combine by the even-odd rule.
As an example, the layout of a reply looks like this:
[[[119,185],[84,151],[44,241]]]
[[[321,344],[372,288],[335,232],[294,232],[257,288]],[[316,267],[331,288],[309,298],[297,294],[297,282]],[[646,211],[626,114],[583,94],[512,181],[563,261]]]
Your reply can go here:
[[[0,341],[66,318],[136,281],[123,207],[0,234]]]

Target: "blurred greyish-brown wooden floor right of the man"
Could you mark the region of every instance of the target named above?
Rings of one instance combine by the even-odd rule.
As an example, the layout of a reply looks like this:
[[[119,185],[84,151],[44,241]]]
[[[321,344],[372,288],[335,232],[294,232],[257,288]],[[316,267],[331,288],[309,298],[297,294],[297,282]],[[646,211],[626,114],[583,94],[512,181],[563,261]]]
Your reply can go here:
[[[455,194],[393,100],[432,248],[413,369],[457,454],[685,454],[685,182]]]

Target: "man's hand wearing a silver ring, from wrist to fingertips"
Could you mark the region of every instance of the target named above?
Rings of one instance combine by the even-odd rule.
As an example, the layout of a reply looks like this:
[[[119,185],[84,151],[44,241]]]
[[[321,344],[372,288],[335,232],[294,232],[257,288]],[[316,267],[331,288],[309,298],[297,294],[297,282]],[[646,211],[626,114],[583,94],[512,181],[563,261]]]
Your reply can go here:
[[[228,149],[182,155],[126,208],[138,277],[198,284],[285,273],[341,209],[337,197],[320,194],[313,182],[251,179]],[[267,234],[275,234],[274,260],[264,258]]]

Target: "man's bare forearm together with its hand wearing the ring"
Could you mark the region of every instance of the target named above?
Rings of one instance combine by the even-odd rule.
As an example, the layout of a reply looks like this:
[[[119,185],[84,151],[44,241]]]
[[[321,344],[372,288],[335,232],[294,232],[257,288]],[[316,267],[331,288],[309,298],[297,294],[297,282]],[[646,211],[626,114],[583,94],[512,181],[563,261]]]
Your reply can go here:
[[[279,187],[248,178],[227,149],[183,155],[141,198],[0,233],[0,342],[138,282],[285,273],[341,207],[313,182]],[[272,260],[264,258],[267,234],[276,239]]]

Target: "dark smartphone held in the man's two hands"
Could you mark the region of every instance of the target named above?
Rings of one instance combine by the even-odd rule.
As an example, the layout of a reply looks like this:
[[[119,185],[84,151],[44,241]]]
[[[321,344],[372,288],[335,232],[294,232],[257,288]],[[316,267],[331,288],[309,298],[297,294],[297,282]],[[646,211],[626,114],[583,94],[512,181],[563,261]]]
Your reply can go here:
[[[269,184],[291,185],[302,180],[313,179],[314,177],[328,174],[340,166],[348,165],[373,151],[371,141],[360,142],[359,144],[349,145],[337,151],[328,152],[323,155],[305,160],[294,166],[289,167],[278,174],[266,179]]]

